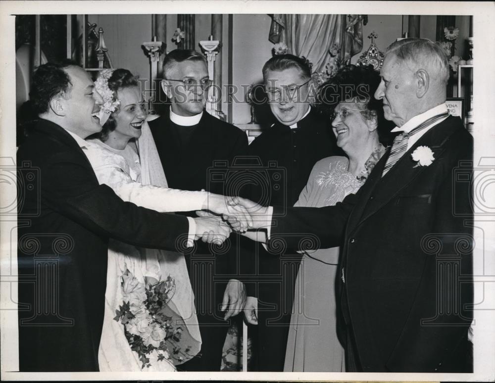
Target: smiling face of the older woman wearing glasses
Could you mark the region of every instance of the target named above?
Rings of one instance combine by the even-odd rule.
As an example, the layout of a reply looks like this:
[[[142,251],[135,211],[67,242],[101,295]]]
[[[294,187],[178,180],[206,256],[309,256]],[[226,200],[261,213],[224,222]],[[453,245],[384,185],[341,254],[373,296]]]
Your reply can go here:
[[[332,128],[337,145],[346,154],[359,152],[368,142],[370,134],[377,134],[376,117],[366,119],[361,110],[366,111],[365,105],[353,100],[340,102],[335,108],[336,117],[332,121]]]

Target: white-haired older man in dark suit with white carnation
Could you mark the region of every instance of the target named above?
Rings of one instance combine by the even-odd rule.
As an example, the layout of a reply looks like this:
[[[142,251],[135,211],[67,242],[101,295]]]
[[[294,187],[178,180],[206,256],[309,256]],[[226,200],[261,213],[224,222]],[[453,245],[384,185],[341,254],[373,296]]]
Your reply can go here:
[[[347,371],[472,372],[473,141],[447,113],[448,75],[435,43],[392,44],[375,93],[401,132],[392,149],[336,206],[289,208],[284,217],[280,207],[266,209],[277,221],[269,244],[283,239],[297,248],[309,238],[312,247],[343,246]]]

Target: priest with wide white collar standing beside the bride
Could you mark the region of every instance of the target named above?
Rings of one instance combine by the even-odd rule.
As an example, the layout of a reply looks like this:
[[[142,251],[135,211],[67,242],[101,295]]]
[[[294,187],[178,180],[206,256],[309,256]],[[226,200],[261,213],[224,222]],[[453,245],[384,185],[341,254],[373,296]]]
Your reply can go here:
[[[246,155],[247,135],[204,110],[211,83],[204,56],[195,50],[171,51],[163,61],[163,77],[170,110],[149,121],[149,127],[169,187],[232,193],[225,190],[225,182],[214,182],[211,170],[226,172],[235,156]],[[181,370],[220,371],[228,330],[224,317],[237,315],[246,299],[244,284],[237,280],[236,236],[230,238],[230,246],[229,254],[218,256],[201,244],[194,254],[185,254],[202,344],[195,358],[179,366]]]

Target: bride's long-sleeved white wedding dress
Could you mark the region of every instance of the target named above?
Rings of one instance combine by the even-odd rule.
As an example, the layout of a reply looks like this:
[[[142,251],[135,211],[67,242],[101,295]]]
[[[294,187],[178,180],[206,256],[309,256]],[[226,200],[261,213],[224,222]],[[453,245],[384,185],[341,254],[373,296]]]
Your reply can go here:
[[[124,150],[116,150],[99,140],[87,141],[85,153],[99,183],[108,185],[125,201],[159,212],[200,210],[207,193],[166,188],[165,175],[148,124],[143,124],[142,129],[142,137],[137,143],[141,161],[130,144]],[[105,313],[99,345],[100,371],[175,371],[174,361],[180,364],[198,353],[201,337],[183,254],[138,248],[110,240],[107,270]],[[124,326],[114,319],[116,310],[124,300],[122,276],[126,270],[143,284],[145,277],[163,281],[171,276],[175,280],[175,293],[168,306],[182,317],[190,335],[187,355],[183,355],[180,362],[173,359],[170,353],[165,359],[158,358],[153,351],[148,355],[149,366],[143,367],[138,354],[131,350]]]

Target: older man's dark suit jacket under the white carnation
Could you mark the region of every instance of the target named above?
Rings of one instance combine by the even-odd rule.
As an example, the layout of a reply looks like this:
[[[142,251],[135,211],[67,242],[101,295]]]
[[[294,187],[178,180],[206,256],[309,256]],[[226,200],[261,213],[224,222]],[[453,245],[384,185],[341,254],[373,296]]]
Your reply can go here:
[[[411,158],[420,145],[434,152],[429,166],[415,167]],[[342,203],[292,208],[276,218],[272,241],[299,247],[304,236],[295,234],[307,233],[314,243],[305,246],[343,245],[341,304],[358,370],[472,369],[466,339],[473,288],[472,152],[471,135],[458,117],[448,117],[381,178],[385,155],[359,192]]]

